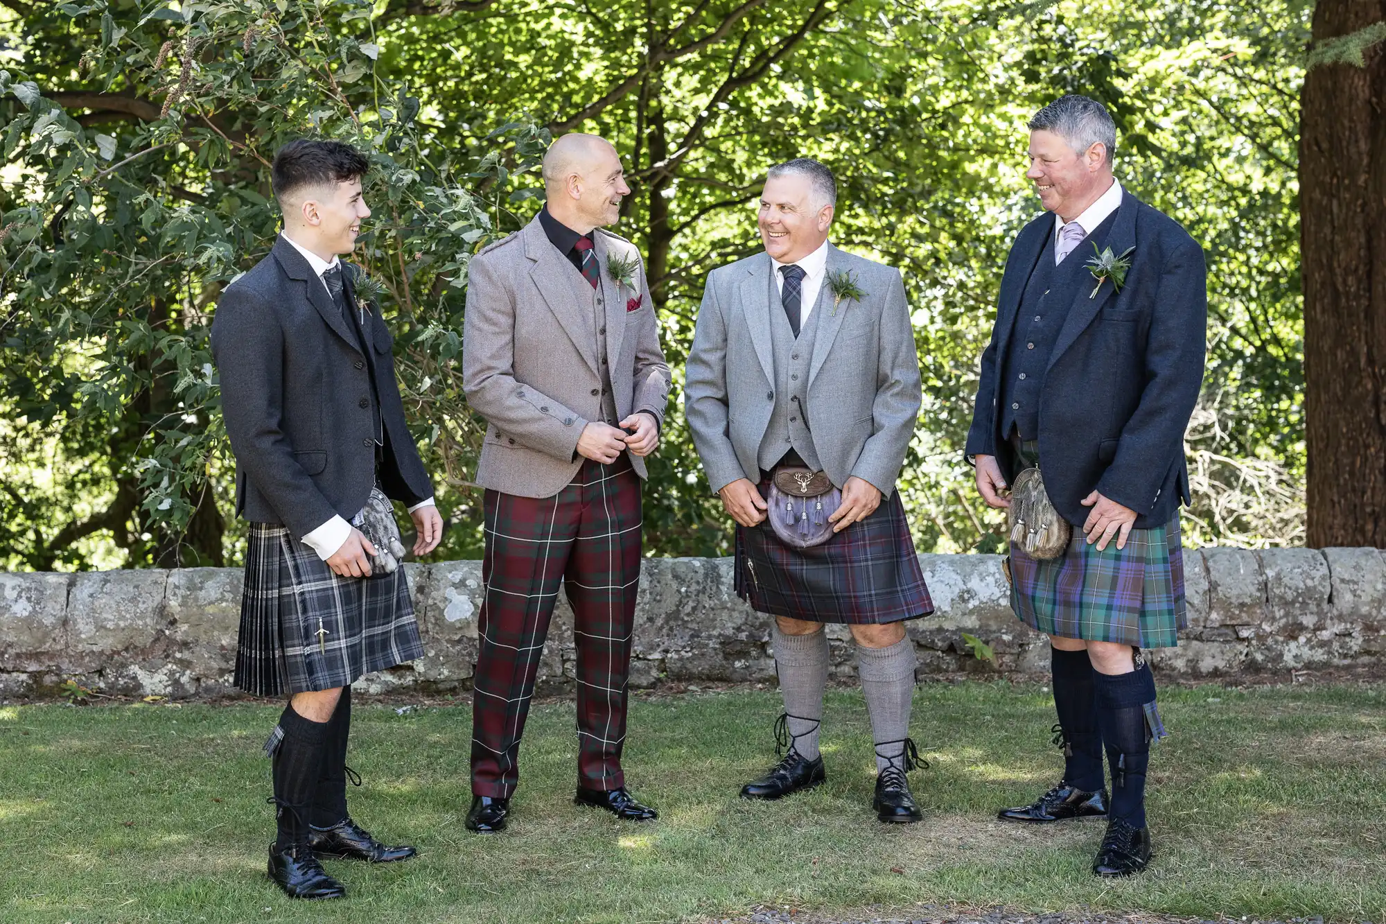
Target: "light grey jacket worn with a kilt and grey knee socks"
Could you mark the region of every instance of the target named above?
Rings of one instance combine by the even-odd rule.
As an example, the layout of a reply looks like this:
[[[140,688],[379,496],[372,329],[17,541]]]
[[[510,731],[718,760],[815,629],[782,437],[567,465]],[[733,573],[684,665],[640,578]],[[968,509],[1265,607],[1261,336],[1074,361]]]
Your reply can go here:
[[[760,480],[757,452],[775,408],[771,258],[760,253],[708,273],[685,376],[693,443],[714,491]],[[900,271],[829,244],[827,272],[850,271],[862,301],[833,309],[827,282],[809,363],[804,419],[823,470],[857,476],[887,497],[919,416],[919,358]]]

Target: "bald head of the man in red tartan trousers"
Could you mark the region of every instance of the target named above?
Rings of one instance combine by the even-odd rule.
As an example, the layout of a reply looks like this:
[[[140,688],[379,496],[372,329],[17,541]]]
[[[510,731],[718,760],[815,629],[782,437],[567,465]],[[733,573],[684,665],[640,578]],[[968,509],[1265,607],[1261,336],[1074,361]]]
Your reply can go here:
[[[549,214],[586,234],[621,218],[621,200],[631,194],[615,147],[596,135],[572,132],[554,139],[543,155],[543,186]]]

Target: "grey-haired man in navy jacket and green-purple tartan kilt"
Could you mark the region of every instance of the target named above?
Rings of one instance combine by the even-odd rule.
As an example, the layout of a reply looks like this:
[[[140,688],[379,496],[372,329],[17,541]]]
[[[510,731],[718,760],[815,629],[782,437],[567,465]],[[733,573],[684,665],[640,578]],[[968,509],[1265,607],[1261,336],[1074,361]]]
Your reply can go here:
[[[1114,148],[1112,117],[1082,96],[1030,121],[1026,176],[1045,214],[1006,259],[966,445],[987,504],[1009,506],[1015,476],[1042,468],[1049,499],[1074,527],[1058,558],[1010,549],[1010,604],[1052,645],[1064,774],[999,817],[1106,816],[1092,866],[1105,877],[1150,859],[1145,777],[1164,727],[1141,649],[1175,645],[1186,624],[1184,430],[1207,323],[1202,248],[1121,189]],[[1089,264],[1109,250],[1109,269]]]

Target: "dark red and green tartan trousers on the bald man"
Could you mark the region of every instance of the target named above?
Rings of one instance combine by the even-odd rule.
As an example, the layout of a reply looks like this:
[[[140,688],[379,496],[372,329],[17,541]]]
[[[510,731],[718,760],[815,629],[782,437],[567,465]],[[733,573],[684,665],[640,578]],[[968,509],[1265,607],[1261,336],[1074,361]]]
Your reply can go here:
[[[485,494],[471,792],[509,799],[549,620],[563,583],[578,649],[578,785],[625,785],[626,678],[640,583],[640,479],[622,454],[588,459],[554,497]]]

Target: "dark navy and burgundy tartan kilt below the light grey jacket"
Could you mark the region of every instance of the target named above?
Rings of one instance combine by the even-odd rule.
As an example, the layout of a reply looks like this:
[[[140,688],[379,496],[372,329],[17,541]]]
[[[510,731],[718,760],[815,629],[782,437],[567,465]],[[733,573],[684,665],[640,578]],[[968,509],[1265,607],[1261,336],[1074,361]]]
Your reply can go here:
[[[766,476],[757,486],[769,494]],[[934,612],[900,491],[822,545],[786,545],[769,522],[736,527],[736,595],[812,623],[897,623]]]

